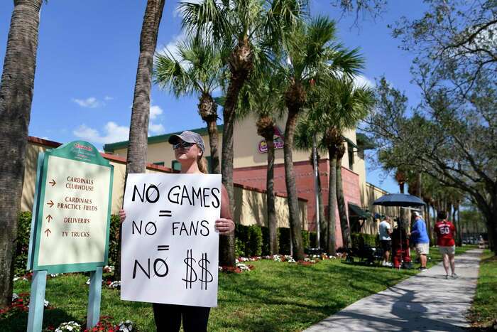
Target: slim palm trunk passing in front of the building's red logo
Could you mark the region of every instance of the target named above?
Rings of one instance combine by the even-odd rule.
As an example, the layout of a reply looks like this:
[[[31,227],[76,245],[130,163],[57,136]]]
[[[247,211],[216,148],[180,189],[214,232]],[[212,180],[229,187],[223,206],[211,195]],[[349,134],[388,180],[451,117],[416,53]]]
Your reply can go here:
[[[268,146],[268,173],[266,176],[266,203],[268,205],[269,251],[278,254],[278,225],[276,225],[276,208],[274,196],[274,127],[265,137]]]

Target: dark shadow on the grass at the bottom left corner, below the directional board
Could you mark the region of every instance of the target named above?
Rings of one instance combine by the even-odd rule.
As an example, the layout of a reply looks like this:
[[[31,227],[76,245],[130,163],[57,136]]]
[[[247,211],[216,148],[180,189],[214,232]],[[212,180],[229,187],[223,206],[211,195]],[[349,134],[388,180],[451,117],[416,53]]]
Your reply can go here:
[[[75,316],[60,309],[46,309],[43,312],[43,328],[54,326],[57,328],[65,321],[77,321]],[[19,312],[0,320],[1,332],[26,332],[28,327],[28,311]],[[84,327],[84,326],[82,326]]]

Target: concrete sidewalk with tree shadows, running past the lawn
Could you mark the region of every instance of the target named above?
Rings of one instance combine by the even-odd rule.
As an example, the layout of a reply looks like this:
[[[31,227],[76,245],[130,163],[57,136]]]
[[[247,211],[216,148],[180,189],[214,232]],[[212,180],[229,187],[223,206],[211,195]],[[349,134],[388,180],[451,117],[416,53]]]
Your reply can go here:
[[[434,249],[437,250],[437,249]],[[458,279],[445,279],[442,263],[365,297],[307,328],[317,331],[464,331],[482,250],[456,256]]]

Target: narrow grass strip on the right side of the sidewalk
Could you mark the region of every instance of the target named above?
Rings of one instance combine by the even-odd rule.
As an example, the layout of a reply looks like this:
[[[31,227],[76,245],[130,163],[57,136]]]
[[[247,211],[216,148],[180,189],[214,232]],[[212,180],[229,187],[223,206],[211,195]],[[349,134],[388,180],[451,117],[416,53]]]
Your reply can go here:
[[[493,324],[497,326],[497,256],[490,250],[485,250],[481,257],[478,287],[469,319],[476,328],[491,331]]]

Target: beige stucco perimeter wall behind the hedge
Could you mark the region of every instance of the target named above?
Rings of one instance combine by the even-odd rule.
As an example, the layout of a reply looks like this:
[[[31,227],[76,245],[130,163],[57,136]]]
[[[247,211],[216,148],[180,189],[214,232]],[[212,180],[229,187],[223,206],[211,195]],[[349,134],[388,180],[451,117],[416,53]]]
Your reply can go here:
[[[23,196],[21,199],[22,211],[33,210],[38,153],[43,152],[46,149],[46,146],[35,144],[31,141],[28,141],[26,146],[26,168],[24,171]],[[126,163],[124,161],[110,160],[110,164],[114,166],[111,213],[117,214],[123,201]],[[165,173],[165,170],[148,167],[147,173]],[[241,223],[242,225],[267,225],[266,193],[235,186],[234,195],[234,221],[236,223]],[[278,227],[289,227],[287,198],[276,196],[275,205]],[[303,226],[302,228],[307,229],[307,203],[304,200],[299,200],[299,209]]]

